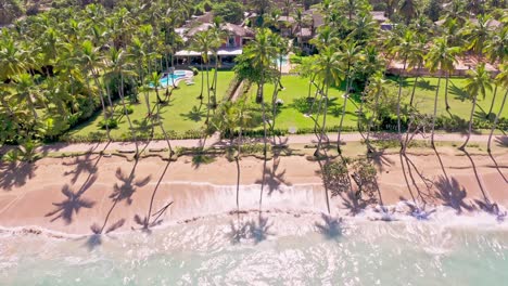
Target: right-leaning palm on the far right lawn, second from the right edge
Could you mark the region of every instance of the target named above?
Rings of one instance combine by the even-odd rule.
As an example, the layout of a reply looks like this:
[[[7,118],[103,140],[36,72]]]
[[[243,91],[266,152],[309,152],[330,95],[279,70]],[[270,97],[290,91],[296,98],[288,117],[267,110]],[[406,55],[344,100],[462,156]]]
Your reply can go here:
[[[469,116],[468,136],[459,150],[465,151],[471,138],[474,108],[477,107],[478,95],[482,94],[485,98],[486,91],[492,91],[491,74],[486,70],[485,64],[482,63],[474,70],[470,73],[471,77],[467,79],[466,89],[470,96],[472,96],[472,108]]]

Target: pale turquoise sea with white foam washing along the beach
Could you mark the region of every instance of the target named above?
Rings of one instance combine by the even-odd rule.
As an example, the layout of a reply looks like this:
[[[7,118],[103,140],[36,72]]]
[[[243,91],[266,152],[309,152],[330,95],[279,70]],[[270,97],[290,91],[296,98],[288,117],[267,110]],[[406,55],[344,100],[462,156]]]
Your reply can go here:
[[[327,222],[328,221],[328,222]],[[240,226],[239,226],[240,225]],[[475,225],[475,226],[472,226]],[[242,230],[242,231],[234,231]],[[506,224],[224,216],[100,239],[0,238],[0,285],[506,285]]]

